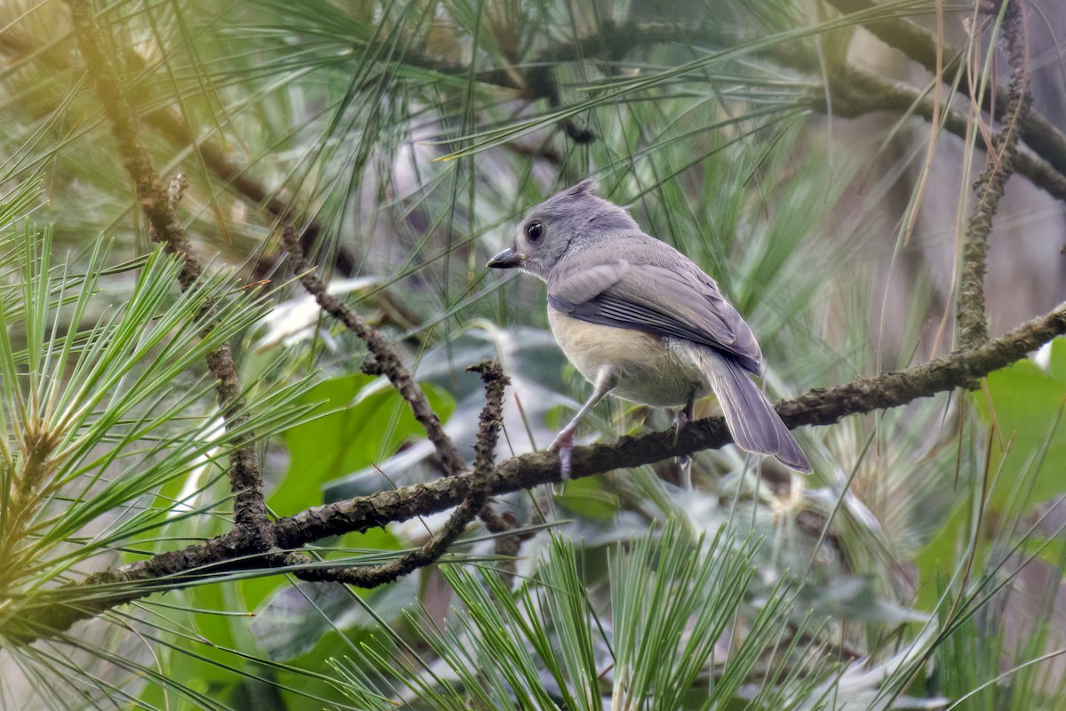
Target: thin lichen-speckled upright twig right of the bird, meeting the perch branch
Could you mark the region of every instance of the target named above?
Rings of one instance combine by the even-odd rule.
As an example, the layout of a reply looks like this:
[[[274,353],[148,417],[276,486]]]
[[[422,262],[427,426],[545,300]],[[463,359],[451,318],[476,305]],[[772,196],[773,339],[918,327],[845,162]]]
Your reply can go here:
[[[975,348],[988,340],[985,314],[985,273],[988,271],[988,235],[1006,181],[1014,173],[1021,122],[1029,111],[1025,35],[1019,0],[1004,0],[1003,38],[1011,63],[1008,99],[1003,128],[988,146],[988,166],[978,180],[978,205],[966,226],[957,305],[958,344]]]

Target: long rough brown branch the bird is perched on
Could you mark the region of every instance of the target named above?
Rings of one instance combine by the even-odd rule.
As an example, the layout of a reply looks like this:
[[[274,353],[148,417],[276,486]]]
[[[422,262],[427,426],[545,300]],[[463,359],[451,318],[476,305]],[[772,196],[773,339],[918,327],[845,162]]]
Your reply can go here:
[[[904,371],[860,378],[833,388],[819,388],[776,406],[789,427],[827,425],[850,415],[899,407],[958,387],[971,387],[976,378],[1005,368],[1035,351],[1055,336],[1066,334],[1066,304],[1029,321],[998,340],[971,351],[956,351]],[[723,447],[730,441],[725,421],[708,418],[673,430],[639,437],[623,437],[611,445],[574,450],[574,479],[624,467],[639,467],[669,457]],[[378,491],[314,506],[272,523],[276,545],[295,550],[327,536],[381,528],[416,516],[447,511],[474,490],[477,473],[443,476],[435,482]],[[530,489],[561,480],[559,455],[536,452],[501,463],[485,481],[488,496]],[[277,560],[277,556],[274,556]],[[48,630],[65,630],[110,608],[180,587],[195,576],[217,576],[236,569],[262,568],[271,556],[249,556],[233,546],[229,535],[160,553],[144,561],[107,570],[39,596],[15,623],[26,632],[5,631],[9,639],[28,643]],[[281,571],[282,567],[274,564]],[[85,598],[92,597],[86,603]],[[72,601],[78,600],[75,604]]]

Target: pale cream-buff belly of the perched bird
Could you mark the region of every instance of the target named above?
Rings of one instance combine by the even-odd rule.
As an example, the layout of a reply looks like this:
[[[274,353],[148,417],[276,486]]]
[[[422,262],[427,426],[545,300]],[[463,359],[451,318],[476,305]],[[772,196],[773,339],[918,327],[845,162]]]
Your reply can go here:
[[[709,392],[707,379],[691,359],[660,336],[632,328],[602,326],[548,309],[559,346],[591,383],[604,366],[617,378],[612,394],[656,407],[683,405],[695,392]]]

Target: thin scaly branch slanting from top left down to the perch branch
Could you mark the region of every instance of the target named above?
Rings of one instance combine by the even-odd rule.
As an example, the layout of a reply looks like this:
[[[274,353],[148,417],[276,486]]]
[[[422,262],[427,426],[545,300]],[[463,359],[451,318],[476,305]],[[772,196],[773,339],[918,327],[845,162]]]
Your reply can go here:
[[[111,132],[117,141],[123,165],[133,179],[141,210],[148,220],[152,239],[163,244],[167,252],[181,258],[178,281],[181,289],[187,291],[199,279],[204,268],[174,209],[180,189],[173,195],[168,194],[152,166],[138,128],[136,114],[123,91],[122,74],[115,58],[107,49],[111,43],[104,39],[106,34],[96,20],[93,3],[90,0],[67,0],[67,4],[70,6],[78,47],[96,86]],[[206,313],[213,316],[214,310],[212,302],[205,303]],[[208,328],[212,328],[213,323],[212,319]],[[247,415],[243,413],[244,398],[228,342],[207,355],[207,366],[215,381],[215,398],[225,419],[226,430],[243,427]],[[233,491],[235,524],[243,532],[238,547],[262,550],[270,546],[271,528],[266,521],[259,458],[253,441],[252,433],[235,439],[229,479]]]

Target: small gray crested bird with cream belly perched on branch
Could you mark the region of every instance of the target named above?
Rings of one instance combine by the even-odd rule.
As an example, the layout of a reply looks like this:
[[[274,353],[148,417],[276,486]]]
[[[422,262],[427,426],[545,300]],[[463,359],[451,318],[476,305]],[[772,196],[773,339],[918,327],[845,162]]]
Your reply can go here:
[[[566,478],[574,432],[609,392],[657,407],[714,392],[733,441],[810,471],[807,457],[762,390],[762,353],[714,279],[584,180],[533,208],[515,241],[488,266],[517,266],[548,284],[548,321],[563,353],[594,385],[552,449]],[[685,463],[687,464],[687,463]],[[688,471],[685,471],[688,473]]]

